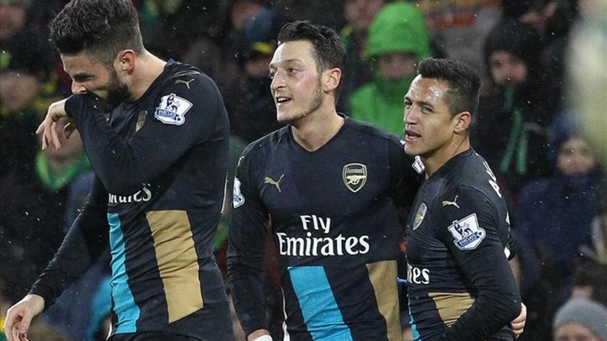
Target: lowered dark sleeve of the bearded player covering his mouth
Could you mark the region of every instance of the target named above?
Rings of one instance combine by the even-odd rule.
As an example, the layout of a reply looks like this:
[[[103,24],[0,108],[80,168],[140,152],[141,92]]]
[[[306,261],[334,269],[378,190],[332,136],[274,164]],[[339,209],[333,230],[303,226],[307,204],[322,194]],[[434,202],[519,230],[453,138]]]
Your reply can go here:
[[[107,192],[95,178],[90,195],[49,265],[32,286],[30,294],[44,298],[49,308],[67,286],[79,279],[109,246]]]

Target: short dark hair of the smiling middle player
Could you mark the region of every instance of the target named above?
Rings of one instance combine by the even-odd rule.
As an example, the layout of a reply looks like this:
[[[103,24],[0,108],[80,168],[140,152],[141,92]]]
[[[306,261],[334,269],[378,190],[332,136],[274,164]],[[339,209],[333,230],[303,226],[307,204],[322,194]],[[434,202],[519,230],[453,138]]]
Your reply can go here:
[[[330,27],[312,24],[310,21],[293,21],[283,25],[278,34],[278,44],[288,41],[309,41],[314,48],[313,56],[320,72],[327,69],[344,70],[346,55],[339,35]],[[339,97],[341,83],[337,86],[336,94]]]

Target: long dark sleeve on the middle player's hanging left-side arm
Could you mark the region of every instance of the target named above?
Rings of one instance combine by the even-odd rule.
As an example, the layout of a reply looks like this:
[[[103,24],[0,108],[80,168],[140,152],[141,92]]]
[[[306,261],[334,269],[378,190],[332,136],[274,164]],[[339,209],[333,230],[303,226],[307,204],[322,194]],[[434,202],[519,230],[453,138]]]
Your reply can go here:
[[[229,287],[246,335],[268,328],[262,262],[269,217],[253,181],[250,156],[245,150],[236,169],[228,239]]]

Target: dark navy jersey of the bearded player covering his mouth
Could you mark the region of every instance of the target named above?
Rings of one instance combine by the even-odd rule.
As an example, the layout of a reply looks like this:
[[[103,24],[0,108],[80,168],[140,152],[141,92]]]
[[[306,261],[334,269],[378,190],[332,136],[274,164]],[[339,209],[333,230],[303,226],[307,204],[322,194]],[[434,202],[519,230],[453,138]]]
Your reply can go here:
[[[70,97],[66,112],[97,180],[33,292],[52,300],[63,288],[57,278],[77,277],[107,240],[112,332],[202,338],[203,310],[226,302],[212,254],[229,139],[219,90],[197,69],[169,61],[139,100],[121,104],[109,118],[86,95]]]

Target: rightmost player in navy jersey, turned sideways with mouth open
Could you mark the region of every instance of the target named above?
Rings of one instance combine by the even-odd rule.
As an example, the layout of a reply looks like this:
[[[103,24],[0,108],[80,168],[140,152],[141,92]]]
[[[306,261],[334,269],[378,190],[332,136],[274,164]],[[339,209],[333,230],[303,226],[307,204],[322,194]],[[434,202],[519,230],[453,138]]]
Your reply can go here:
[[[407,223],[410,323],[415,340],[512,340],[521,309],[508,265],[509,216],[495,176],[470,147],[478,76],[425,59],[405,95],[405,152],[425,180]]]

